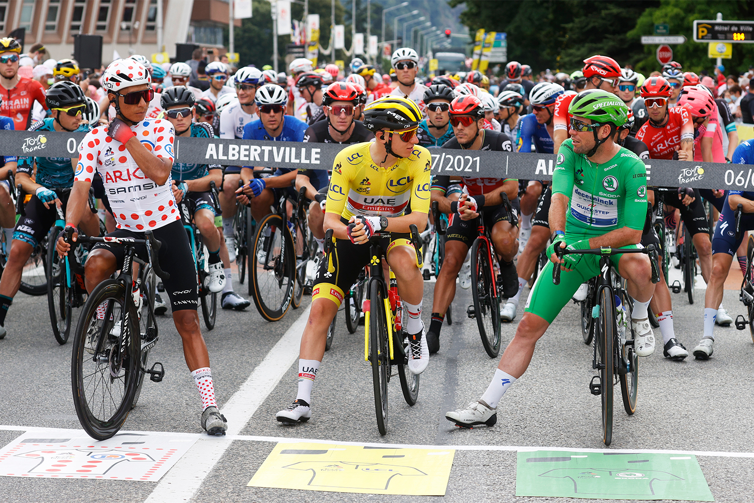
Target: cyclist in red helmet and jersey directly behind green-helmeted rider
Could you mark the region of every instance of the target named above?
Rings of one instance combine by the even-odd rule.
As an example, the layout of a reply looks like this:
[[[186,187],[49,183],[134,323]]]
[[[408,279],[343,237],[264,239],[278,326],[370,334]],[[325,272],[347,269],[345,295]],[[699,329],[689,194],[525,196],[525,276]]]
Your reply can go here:
[[[584,78],[587,85],[584,89],[602,89],[612,94],[618,91],[618,79],[621,78],[621,66],[607,56],[596,54],[584,60]],[[568,128],[571,116],[568,113],[575,93],[566,92],[555,103],[553,112],[553,152],[557,152],[560,144],[568,138]]]

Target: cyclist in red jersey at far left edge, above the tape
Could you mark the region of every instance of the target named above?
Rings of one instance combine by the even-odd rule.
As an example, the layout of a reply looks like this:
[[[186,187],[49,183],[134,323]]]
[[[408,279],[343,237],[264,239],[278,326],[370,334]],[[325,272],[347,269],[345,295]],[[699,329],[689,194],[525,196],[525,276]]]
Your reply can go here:
[[[18,76],[18,60],[21,46],[15,38],[0,38],[0,86],[2,86],[2,107],[0,115],[13,119],[16,130],[28,129],[32,121],[32,107],[37,101],[44,103],[44,88],[32,78]]]

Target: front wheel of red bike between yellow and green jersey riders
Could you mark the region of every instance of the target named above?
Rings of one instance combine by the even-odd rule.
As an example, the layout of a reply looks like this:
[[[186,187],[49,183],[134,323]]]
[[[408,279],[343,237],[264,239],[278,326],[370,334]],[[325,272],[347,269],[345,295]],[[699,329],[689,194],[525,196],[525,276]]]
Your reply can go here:
[[[492,282],[492,256],[489,244],[481,238],[471,247],[471,294],[482,345],[490,358],[500,352],[500,302]]]

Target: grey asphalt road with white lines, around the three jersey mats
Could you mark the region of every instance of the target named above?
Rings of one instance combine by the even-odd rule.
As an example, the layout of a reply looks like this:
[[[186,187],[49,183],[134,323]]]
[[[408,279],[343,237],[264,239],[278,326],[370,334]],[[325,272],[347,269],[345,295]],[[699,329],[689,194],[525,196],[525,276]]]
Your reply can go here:
[[[434,283],[425,283],[426,322],[433,288]],[[236,290],[245,292],[246,285]],[[703,290],[697,291],[696,305],[688,305],[685,296],[673,295],[676,336],[688,348],[702,335],[702,299]],[[724,302],[731,314],[744,312],[737,292],[727,290]],[[661,348],[643,358],[637,413],[624,413],[618,391],[613,443],[605,448],[599,397],[588,390],[593,375],[591,349],[582,342],[580,313],[572,304],[538,343],[529,371],[501,401],[497,425],[462,430],[444,418],[446,411],[480,396],[497,364],[482,348],[476,321],[465,317],[469,304],[470,291],[459,288],[454,323],[443,327],[440,352],[421,376],[418,403],[406,405],[397,379],[391,382],[385,437],[375,425],[371,373],[363,360],[363,331],[348,334],[342,313],[333,348],[326,353],[314,385],[313,417],[291,427],[278,424],[274,416],[296,396],[297,342],[302,326],[302,321],[296,321],[308,307],[308,299],[277,323],[262,321],[253,305],[245,312],[220,311],[216,329],[204,336],[216,394],[231,431],[228,437],[211,439],[201,435],[198,393],[185,367],[180,339],[166,317],[160,324],[161,339],[150,354],[152,360],[164,363],[166,376],[161,383],[146,382],[124,431],[192,434],[201,439],[195,443],[196,449],[189,450],[160,483],[0,477],[0,501],[335,502],[388,498],[248,487],[279,437],[455,446],[443,501],[575,501],[516,498],[516,450],[537,448],[696,452],[716,501],[754,500],[754,344],[748,330],[718,328],[715,354],[707,361],[693,357],[684,362],[665,360]],[[519,317],[521,314],[523,302]],[[55,342],[46,298],[20,293],[5,326],[8,336],[0,340],[0,382],[4,384],[0,446],[25,431],[35,436],[40,431],[58,431],[39,428],[58,428],[61,434],[63,429],[81,432],[72,403],[71,345]],[[515,327],[515,322],[504,325],[504,344]],[[659,338],[658,332],[656,335]],[[260,365],[262,370],[253,374]],[[192,484],[195,488],[187,489]],[[437,501],[431,496],[389,498]]]

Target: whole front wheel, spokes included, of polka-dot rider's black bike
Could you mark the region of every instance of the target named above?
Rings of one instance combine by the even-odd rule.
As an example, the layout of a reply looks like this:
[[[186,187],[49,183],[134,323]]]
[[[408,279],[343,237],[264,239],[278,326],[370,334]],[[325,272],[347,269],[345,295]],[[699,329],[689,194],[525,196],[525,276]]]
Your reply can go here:
[[[121,429],[140,373],[139,326],[133,307],[123,316],[126,295],[130,292],[116,280],[97,285],[84,305],[73,339],[73,403],[84,431],[97,440],[106,440]],[[124,317],[128,330],[113,331],[115,322],[122,324]]]

